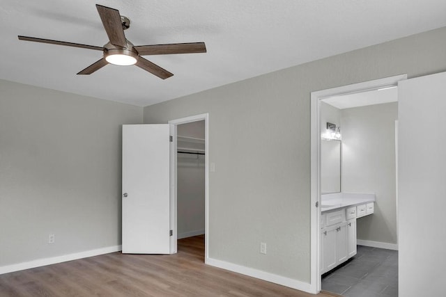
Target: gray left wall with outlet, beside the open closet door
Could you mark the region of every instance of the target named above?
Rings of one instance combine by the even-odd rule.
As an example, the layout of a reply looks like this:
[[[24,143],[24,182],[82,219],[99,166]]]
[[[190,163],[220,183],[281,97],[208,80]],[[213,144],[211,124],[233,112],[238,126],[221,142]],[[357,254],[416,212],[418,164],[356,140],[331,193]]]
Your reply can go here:
[[[121,125],[143,109],[3,80],[0,94],[0,266],[121,244]]]

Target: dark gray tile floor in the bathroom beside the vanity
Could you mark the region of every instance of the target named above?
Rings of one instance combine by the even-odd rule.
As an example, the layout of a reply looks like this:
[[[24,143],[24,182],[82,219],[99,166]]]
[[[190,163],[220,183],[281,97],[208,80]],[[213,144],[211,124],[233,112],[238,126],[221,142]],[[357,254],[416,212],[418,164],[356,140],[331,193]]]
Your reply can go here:
[[[322,275],[322,289],[345,297],[397,297],[398,252],[357,246],[355,257]]]

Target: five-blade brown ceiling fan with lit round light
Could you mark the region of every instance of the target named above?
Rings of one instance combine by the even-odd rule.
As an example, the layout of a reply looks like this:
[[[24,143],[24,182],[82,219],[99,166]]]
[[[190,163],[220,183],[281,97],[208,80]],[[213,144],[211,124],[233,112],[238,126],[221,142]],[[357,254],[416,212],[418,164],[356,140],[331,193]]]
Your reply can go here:
[[[171,43],[168,45],[133,45],[124,35],[124,30],[130,27],[130,19],[119,15],[119,10],[114,8],[101,6],[99,4],[96,4],[96,8],[98,9],[100,19],[109,37],[109,42],[103,47],[33,38],[22,35],[19,35],[18,37],[20,40],[43,42],[53,45],[66,45],[68,47],[81,47],[84,49],[95,49],[103,52],[103,58],[89,65],[89,67],[86,67],[77,74],[92,74],[110,63],[114,65],[137,65],[161,79],[167,79],[174,74],[141,56],[206,53],[206,45],[204,42]]]

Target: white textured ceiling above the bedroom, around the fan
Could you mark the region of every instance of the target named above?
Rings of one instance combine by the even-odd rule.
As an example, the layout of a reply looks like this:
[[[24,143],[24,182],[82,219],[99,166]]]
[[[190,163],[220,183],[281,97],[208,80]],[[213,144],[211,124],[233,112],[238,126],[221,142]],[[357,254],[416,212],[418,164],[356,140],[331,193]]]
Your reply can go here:
[[[134,45],[206,42],[206,54],[146,56],[174,73],[135,66],[77,72],[100,51],[17,35],[102,46],[95,3],[132,21]],[[146,106],[318,58],[446,26],[445,0],[1,0],[0,79]]]

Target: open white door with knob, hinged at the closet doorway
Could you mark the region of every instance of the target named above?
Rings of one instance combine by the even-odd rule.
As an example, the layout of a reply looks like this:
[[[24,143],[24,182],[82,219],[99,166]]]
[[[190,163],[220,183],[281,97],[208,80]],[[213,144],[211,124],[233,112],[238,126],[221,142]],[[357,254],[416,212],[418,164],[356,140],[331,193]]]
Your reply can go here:
[[[123,253],[170,253],[169,134],[169,124],[123,125]]]

